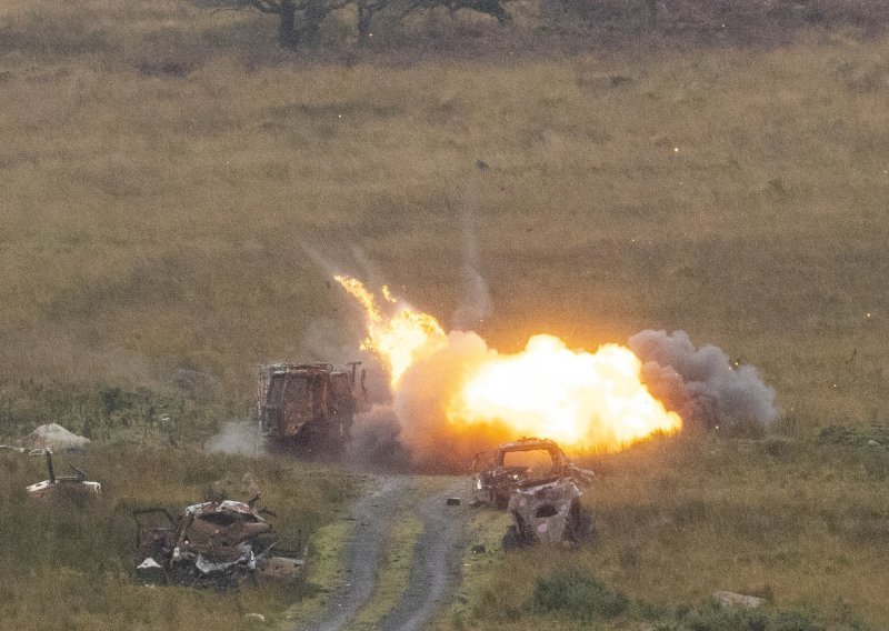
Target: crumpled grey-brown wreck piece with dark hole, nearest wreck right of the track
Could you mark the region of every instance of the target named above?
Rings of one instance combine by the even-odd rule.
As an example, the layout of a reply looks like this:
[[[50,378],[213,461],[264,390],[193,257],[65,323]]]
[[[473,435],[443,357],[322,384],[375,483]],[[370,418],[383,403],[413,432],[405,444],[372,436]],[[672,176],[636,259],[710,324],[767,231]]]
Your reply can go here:
[[[595,539],[592,517],[581,505],[580,494],[570,478],[521,484],[509,500],[513,523],[503,535],[503,550],[535,543],[578,544]]]

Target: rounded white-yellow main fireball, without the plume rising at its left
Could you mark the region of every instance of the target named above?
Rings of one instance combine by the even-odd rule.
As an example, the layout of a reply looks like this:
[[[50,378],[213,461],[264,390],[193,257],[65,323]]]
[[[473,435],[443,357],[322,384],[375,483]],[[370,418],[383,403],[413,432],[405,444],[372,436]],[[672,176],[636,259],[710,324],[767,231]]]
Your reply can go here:
[[[525,351],[469,369],[448,407],[451,423],[506,424],[517,435],[551,438],[565,447],[617,450],[681,427],[639,378],[629,349],[606,344],[572,351],[553,335],[535,335]]]

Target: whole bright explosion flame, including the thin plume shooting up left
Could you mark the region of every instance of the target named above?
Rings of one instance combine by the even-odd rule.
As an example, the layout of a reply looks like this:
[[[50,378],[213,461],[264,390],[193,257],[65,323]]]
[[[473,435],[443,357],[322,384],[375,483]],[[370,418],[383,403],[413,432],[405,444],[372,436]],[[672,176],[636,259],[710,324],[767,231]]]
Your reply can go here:
[[[382,294],[393,313],[386,317],[361,282],[334,278],[363,307],[368,338],[362,349],[388,365],[397,400],[402,389],[423,388],[426,378],[411,371],[434,372],[429,367],[437,360],[449,367],[434,374],[428,391],[444,398],[438,408],[451,437],[473,431],[505,440],[536,435],[572,450],[616,451],[682,425],[679,414],[648,391],[640,378],[642,362],[626,347],[571,350],[559,338],[540,334],[516,354],[500,354],[480,338],[476,350],[461,354],[457,347],[473,333],[446,334],[434,317],[411,309],[388,288]]]

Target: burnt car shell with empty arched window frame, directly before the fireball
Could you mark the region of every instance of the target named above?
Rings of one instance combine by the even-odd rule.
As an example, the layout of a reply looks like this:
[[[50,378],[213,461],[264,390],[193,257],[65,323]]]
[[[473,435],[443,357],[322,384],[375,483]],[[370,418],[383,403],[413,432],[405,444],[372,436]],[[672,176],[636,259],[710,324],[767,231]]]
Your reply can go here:
[[[549,439],[523,438],[501,444],[492,454],[480,453],[473,463],[472,493],[477,503],[506,509],[512,492],[535,482],[570,478],[589,483],[592,471],[571,463]]]

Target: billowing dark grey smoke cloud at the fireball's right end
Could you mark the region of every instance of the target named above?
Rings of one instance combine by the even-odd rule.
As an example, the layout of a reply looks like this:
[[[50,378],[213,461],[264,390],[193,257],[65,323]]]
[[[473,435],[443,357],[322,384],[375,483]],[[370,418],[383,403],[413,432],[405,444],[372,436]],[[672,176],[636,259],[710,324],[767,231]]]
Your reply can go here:
[[[733,365],[718,347],[696,349],[685,331],[645,330],[627,344],[642,360],[642,380],[687,425],[767,425],[778,418],[775,389],[752,365]]]

